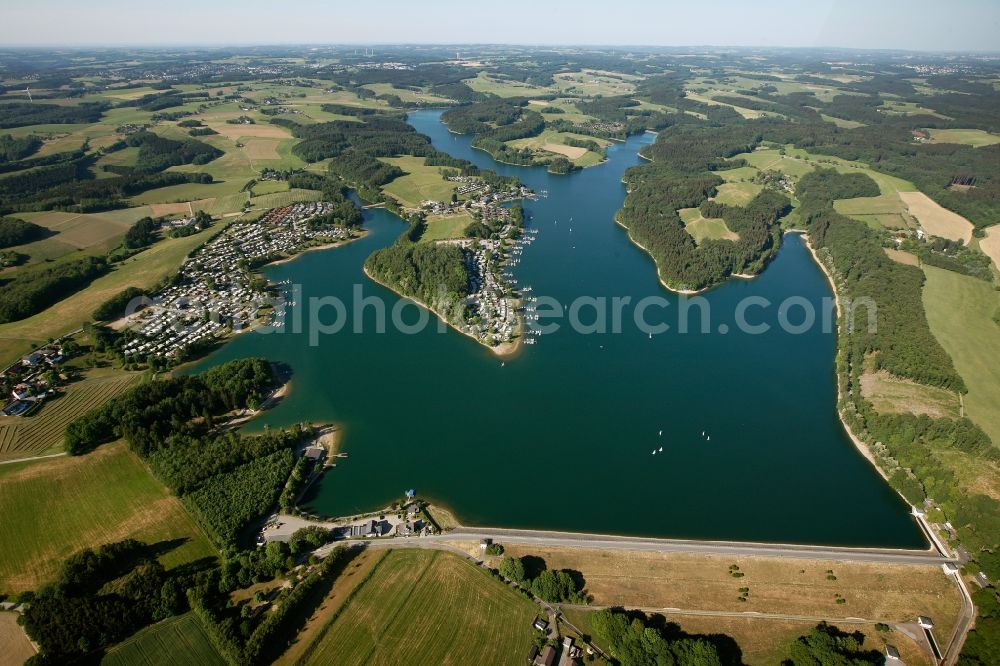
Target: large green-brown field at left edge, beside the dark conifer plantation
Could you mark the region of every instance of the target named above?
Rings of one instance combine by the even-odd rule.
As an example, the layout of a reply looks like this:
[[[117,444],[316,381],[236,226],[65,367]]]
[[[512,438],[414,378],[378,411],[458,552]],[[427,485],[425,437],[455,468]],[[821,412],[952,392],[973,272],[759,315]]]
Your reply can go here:
[[[88,547],[135,538],[175,542],[173,567],[213,557],[208,540],[123,443],[85,456],[0,465],[0,590],[36,589]]]

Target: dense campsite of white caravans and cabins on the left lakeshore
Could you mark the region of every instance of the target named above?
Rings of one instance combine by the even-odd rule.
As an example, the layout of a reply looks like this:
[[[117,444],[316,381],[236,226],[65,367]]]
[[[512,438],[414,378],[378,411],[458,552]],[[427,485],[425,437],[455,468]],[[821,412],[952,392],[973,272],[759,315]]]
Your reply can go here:
[[[175,284],[143,300],[125,355],[183,357],[194,345],[252,325],[270,303],[252,268],[307,245],[350,238],[347,228],[310,223],[332,210],[327,202],[297,203],[230,225],[184,263]]]

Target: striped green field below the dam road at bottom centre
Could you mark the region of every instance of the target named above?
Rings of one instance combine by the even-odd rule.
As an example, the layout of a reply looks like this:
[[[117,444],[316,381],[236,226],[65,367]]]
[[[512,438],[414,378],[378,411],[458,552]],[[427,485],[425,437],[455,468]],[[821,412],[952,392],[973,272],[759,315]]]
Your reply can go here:
[[[451,553],[393,551],[306,664],[523,664],[537,607]]]

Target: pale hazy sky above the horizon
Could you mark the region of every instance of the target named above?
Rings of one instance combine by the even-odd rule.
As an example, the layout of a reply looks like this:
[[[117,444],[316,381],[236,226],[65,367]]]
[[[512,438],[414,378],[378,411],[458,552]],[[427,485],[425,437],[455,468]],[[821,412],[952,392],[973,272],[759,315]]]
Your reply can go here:
[[[516,43],[1000,51],[1000,0],[0,0],[16,44]]]

